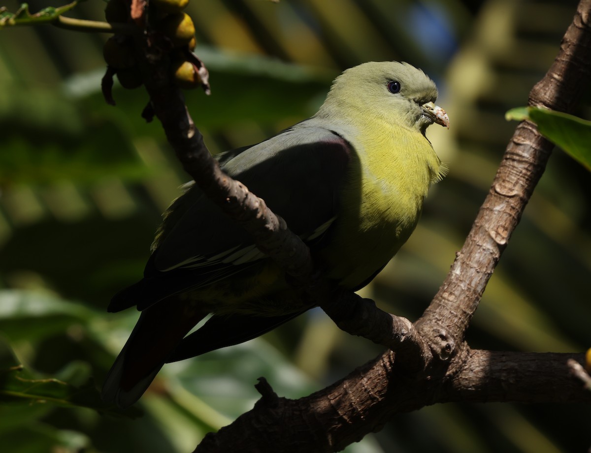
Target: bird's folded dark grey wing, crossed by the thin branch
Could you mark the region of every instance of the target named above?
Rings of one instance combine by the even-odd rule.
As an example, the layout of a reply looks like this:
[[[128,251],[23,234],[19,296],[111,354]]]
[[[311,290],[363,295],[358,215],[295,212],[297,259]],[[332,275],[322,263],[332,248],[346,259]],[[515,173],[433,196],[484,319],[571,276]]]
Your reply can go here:
[[[339,185],[353,150],[335,132],[302,124],[225,153],[220,163],[282,216],[291,231],[313,241],[336,218]],[[113,297],[109,311],[148,307],[170,294],[238,273],[264,257],[241,226],[191,186],[165,216],[144,280]]]

